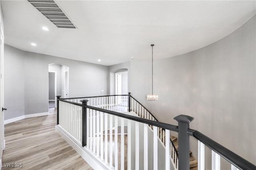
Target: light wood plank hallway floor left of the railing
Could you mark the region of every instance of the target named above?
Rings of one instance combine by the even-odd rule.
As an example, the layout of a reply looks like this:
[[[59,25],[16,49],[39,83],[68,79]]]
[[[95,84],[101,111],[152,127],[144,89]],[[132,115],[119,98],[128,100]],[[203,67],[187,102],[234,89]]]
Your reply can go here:
[[[90,165],[55,132],[56,109],[48,116],[23,119],[4,127],[6,147],[2,170],[92,170]],[[21,163],[22,168],[12,167]],[[16,164],[18,165],[18,164]]]

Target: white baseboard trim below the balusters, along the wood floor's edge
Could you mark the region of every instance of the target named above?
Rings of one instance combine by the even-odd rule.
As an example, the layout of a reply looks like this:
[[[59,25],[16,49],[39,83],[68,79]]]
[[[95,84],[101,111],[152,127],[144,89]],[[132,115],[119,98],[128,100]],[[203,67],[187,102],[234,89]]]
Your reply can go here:
[[[114,170],[113,168],[110,168],[109,166],[106,166],[105,163],[101,160],[99,160],[95,154],[92,154],[89,150],[87,150],[85,147],[82,147],[78,141],[74,141],[70,135],[65,133],[65,131],[60,127],[59,125],[55,126],[55,130],[58,134],[60,134],[65,141],[74,149],[76,152],[93,168],[96,170]]]

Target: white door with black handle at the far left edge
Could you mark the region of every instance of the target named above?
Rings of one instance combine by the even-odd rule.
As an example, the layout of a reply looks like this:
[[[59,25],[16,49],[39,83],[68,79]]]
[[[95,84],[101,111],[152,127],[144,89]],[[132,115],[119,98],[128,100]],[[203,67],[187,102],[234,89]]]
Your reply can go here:
[[[4,35],[0,28],[0,159],[2,163],[2,153],[5,147],[4,142]]]

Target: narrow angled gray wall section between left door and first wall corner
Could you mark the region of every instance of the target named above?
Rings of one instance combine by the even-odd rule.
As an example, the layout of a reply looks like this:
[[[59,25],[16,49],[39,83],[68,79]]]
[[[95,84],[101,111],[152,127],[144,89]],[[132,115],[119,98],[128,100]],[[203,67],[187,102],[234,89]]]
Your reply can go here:
[[[8,48],[8,45],[4,47]],[[5,120],[25,114],[24,56],[24,51],[19,49],[4,49],[4,107],[7,108],[4,111]]]

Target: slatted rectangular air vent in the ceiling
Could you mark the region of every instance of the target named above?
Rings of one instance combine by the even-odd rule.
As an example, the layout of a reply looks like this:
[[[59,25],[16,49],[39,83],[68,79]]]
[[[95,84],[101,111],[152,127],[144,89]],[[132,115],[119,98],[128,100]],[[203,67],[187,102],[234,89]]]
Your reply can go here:
[[[28,0],[28,2],[58,28],[77,28],[54,0]]]

